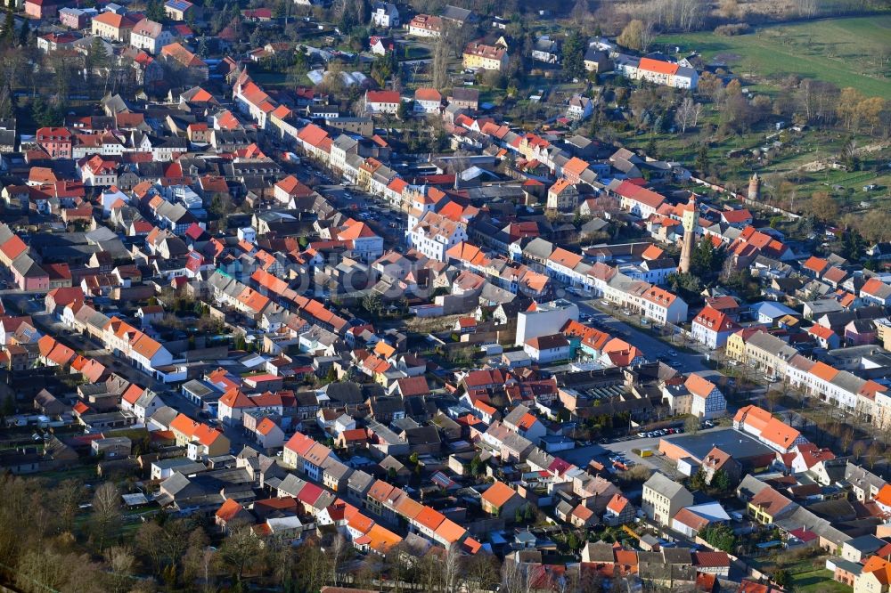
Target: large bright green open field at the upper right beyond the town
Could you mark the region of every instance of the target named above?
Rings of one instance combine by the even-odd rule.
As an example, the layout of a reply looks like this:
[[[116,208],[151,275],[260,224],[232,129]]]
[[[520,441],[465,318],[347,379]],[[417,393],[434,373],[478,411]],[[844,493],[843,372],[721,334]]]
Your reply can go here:
[[[722,62],[756,82],[796,74],[891,97],[889,14],[773,25],[736,37],[670,35],[657,42],[680,46],[682,53],[702,53],[707,62]]]

